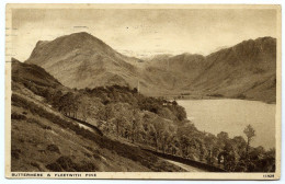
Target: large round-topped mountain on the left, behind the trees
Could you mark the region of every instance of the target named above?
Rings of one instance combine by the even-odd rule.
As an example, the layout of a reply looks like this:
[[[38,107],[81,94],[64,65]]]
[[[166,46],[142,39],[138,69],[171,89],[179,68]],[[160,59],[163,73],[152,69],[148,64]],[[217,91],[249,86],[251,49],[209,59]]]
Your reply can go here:
[[[25,62],[43,67],[69,88],[136,83],[137,59],[118,54],[88,33],[38,42]]]

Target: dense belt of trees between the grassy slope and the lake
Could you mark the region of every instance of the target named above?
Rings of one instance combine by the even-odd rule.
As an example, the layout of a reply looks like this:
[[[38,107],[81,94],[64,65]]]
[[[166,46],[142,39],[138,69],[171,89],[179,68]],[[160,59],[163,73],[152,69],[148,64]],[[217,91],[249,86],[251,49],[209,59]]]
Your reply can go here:
[[[66,116],[95,119],[104,133],[152,147],[157,151],[205,162],[232,172],[275,170],[275,150],[251,147],[254,129],[229,138],[196,129],[175,101],[145,96],[127,87],[69,90],[30,88]]]

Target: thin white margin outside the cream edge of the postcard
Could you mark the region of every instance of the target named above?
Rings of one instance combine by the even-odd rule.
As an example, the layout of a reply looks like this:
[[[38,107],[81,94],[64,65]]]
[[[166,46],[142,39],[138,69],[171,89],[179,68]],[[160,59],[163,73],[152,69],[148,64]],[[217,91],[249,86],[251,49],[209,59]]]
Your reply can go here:
[[[62,182],[70,182],[70,183],[78,183],[79,181],[76,181],[76,180],[69,180],[69,181],[62,181],[62,180],[41,180],[41,181],[37,181],[37,180],[22,180],[22,181],[19,181],[19,180],[7,180],[4,179],[4,31],[5,31],[5,3],[38,3],[38,1],[36,0],[2,0],[0,3],[0,16],[1,16],[1,20],[0,20],[0,43],[1,43],[1,46],[0,46],[0,57],[1,57],[1,62],[0,62],[0,83],[1,83],[1,90],[0,90],[0,96],[2,96],[2,100],[0,100],[0,112],[1,112],[1,115],[0,115],[0,120],[2,123],[2,127],[0,128],[0,133],[2,135],[2,146],[1,146],[1,165],[0,165],[0,180],[1,180],[1,183],[13,183],[13,182],[24,182],[24,183],[46,183],[46,182],[53,182],[53,183],[62,183]],[[45,3],[235,3],[235,4],[242,4],[242,3],[246,3],[246,4],[282,4],[282,7],[285,4],[285,2],[281,1],[281,0],[275,0],[275,1],[270,1],[270,0],[250,0],[250,1],[246,1],[246,0],[119,0],[119,1],[116,1],[116,0],[96,0],[96,1],[90,1],[90,0],[48,0],[48,1],[45,1]],[[283,18],[282,18],[282,25],[284,25],[284,13],[283,13]],[[284,45],[284,38],[282,37],[282,45]],[[282,53],[284,51],[284,48],[282,48]],[[282,60],[284,61],[284,57],[282,57]],[[284,71],[284,67],[282,67],[283,71]],[[282,78],[282,87],[284,85],[284,78]],[[283,88],[282,88],[283,89]],[[283,96],[284,97],[284,96]],[[282,97],[282,99],[283,99]],[[284,114],[284,111],[282,110],[282,114]],[[284,120],[284,118],[283,118]],[[282,120],[282,122],[283,122]],[[282,133],[285,134],[284,131],[284,126],[282,126]],[[283,141],[282,141],[282,152],[283,152],[283,156],[284,156],[284,136],[283,136]],[[285,166],[284,166],[284,161],[282,160],[282,175],[281,175],[281,181],[273,181],[272,183],[284,183],[284,170],[285,170]],[[80,181],[80,182],[100,182],[100,183],[125,183],[125,182],[134,182],[134,181],[125,181],[125,180],[121,180],[121,181]],[[152,183],[155,181],[136,181],[136,182],[147,182],[147,183]],[[156,181],[158,182],[158,181]],[[168,183],[168,182],[171,182],[173,183],[174,181],[159,181],[159,183]],[[179,182],[179,181],[175,181],[175,182]],[[208,183],[206,181],[196,181],[198,183]],[[195,182],[195,183],[196,183]],[[220,181],[218,181],[220,182]],[[181,182],[182,183],[182,182]],[[225,183],[225,182],[224,182]],[[242,183],[240,181],[231,181],[230,183]],[[248,181],[247,183],[256,183],[254,181]],[[263,183],[263,182],[259,182],[259,183]]]

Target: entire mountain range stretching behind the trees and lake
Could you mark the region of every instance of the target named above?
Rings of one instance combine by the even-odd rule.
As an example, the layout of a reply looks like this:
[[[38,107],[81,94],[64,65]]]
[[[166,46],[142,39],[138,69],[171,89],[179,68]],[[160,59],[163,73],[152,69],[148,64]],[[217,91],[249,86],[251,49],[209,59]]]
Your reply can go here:
[[[124,56],[88,33],[38,42],[25,61],[69,88],[129,85],[147,95],[190,93],[274,102],[276,39],[244,41],[208,56],[161,55],[142,61]]]

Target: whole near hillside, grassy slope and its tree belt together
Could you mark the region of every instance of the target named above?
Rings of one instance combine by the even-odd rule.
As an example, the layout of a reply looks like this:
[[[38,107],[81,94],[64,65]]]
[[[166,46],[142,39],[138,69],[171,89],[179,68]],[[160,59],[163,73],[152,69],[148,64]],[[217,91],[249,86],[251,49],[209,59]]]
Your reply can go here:
[[[247,148],[242,136],[229,138],[225,131],[200,131],[175,101],[137,89],[69,89],[41,67],[14,59],[11,101],[12,171],[275,170],[274,149]]]

